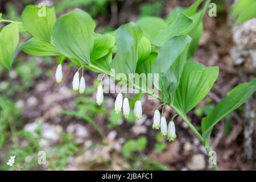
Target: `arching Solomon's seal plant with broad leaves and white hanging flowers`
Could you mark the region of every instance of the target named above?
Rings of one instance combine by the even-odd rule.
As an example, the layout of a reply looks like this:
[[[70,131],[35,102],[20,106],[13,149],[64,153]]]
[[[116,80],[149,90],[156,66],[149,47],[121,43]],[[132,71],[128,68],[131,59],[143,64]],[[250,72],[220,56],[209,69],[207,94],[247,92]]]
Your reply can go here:
[[[0,32],[0,63],[11,69],[15,50],[19,43],[19,32],[31,35],[23,43],[23,52],[32,56],[58,56],[56,81],[63,78],[61,64],[69,61],[69,67],[76,66],[73,90],[85,90],[84,69],[103,73],[114,78],[123,87],[147,93],[161,101],[162,106],[170,106],[183,118],[209,156],[209,142],[213,127],[226,115],[240,107],[256,90],[256,79],[236,86],[228,96],[203,118],[201,132],[187,118],[200,101],[207,96],[217,80],[218,67],[192,60],[203,33],[203,16],[209,0],[197,10],[203,0],[196,1],[188,9],[174,9],[166,19],[146,17],[138,22],[123,24],[109,34],[94,32],[96,23],[88,13],[80,9],[56,18],[53,7],[46,7],[45,16],[38,14],[39,7],[29,5],[22,13],[22,22],[0,19],[9,23]],[[80,71],[82,72],[80,78]],[[138,83],[135,75],[147,75]],[[150,83],[160,90],[152,91]],[[104,99],[102,84],[98,86],[96,102]],[[130,113],[129,100],[119,91],[115,101],[115,113],[123,111],[124,117]],[[159,108],[159,107],[158,107]],[[158,108],[155,110],[153,129],[160,129],[162,135],[175,140],[176,115],[167,123]],[[162,109],[163,110],[163,109]],[[135,119],[142,118],[142,103],[137,100],[134,107]],[[10,163],[11,164],[11,163]],[[214,164],[214,168],[218,169]]]

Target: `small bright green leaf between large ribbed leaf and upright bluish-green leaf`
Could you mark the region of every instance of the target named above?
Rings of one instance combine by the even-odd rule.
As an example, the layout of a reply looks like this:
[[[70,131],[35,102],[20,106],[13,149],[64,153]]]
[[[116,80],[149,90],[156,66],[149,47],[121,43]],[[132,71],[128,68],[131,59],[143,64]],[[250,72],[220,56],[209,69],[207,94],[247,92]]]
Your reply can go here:
[[[92,53],[90,54],[90,60],[93,61],[104,57],[111,51],[114,44],[115,38],[113,35],[94,35],[94,47]]]

